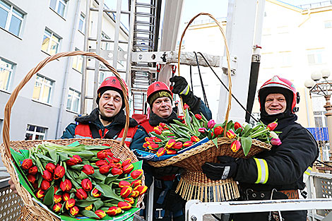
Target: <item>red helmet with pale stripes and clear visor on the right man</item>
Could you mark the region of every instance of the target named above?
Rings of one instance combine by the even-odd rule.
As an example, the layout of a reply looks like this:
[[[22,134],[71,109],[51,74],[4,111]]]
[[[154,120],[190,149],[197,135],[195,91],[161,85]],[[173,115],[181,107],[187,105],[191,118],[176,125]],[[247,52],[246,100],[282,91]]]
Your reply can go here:
[[[296,89],[290,80],[287,80],[285,78],[280,78],[279,76],[273,76],[270,80],[266,81],[266,83],[263,83],[261,85],[261,88],[259,88],[259,104],[261,104],[261,93],[265,89],[272,89],[272,88],[285,88],[286,90],[289,90],[292,94],[292,112],[297,112],[297,109],[295,108],[295,105],[300,102],[300,95],[299,92],[296,92]],[[266,92],[269,92],[267,90]]]

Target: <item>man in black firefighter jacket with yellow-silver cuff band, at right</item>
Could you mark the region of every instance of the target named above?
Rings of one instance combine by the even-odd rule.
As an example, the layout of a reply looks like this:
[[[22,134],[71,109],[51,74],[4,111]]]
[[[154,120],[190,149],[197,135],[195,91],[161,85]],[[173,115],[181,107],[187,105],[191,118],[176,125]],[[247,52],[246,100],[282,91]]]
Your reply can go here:
[[[297,124],[296,104],[300,102],[294,85],[285,78],[274,76],[259,89],[261,121],[277,121],[280,145],[263,151],[250,159],[218,157],[220,162],[206,162],[202,166],[206,176],[213,180],[232,177],[239,182],[244,201],[299,198],[304,189],[303,174],[308,173],[319,155],[319,149],[307,129]],[[304,193],[304,192],[302,192]],[[307,210],[263,213],[239,213],[238,220],[307,220]]]

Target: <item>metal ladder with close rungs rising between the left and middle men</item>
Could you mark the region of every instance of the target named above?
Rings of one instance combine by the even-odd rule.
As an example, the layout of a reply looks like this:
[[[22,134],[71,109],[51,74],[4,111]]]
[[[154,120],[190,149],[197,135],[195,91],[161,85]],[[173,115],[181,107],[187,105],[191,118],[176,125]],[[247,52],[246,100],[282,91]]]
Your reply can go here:
[[[161,0],[135,0],[133,52],[156,52],[160,23]],[[141,61],[131,64],[131,92],[134,114],[146,114],[146,90],[156,79],[155,64]]]

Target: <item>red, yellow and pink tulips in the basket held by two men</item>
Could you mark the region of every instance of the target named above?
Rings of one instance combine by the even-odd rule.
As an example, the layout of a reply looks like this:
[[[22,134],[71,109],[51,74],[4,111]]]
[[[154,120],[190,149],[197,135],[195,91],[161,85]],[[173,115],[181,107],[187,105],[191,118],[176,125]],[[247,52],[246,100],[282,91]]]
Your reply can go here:
[[[203,114],[193,114],[186,109],[184,121],[174,120],[176,124],[160,123],[155,126],[150,136],[146,138],[143,147],[158,157],[162,155],[176,155],[179,150],[188,148],[194,143],[208,137],[218,147],[218,138],[226,136],[235,139],[230,146],[233,152],[243,148],[247,156],[251,148],[252,139],[257,139],[272,145],[280,145],[278,132],[273,130],[278,125],[276,122],[264,125],[262,122],[254,126],[251,124],[239,124],[239,122],[228,121],[227,124],[216,124],[213,119],[208,121]]]

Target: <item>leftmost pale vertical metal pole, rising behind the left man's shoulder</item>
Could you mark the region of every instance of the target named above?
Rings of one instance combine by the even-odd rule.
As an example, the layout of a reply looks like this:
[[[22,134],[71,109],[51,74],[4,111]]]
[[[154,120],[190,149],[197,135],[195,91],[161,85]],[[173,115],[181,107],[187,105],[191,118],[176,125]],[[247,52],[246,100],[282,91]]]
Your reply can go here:
[[[90,28],[90,0],[85,1],[85,27],[84,27],[84,48],[88,52],[89,41],[89,28]],[[82,84],[81,84],[81,114],[85,114],[85,94],[86,94],[86,67],[88,66],[87,56],[83,56],[82,68]]]

